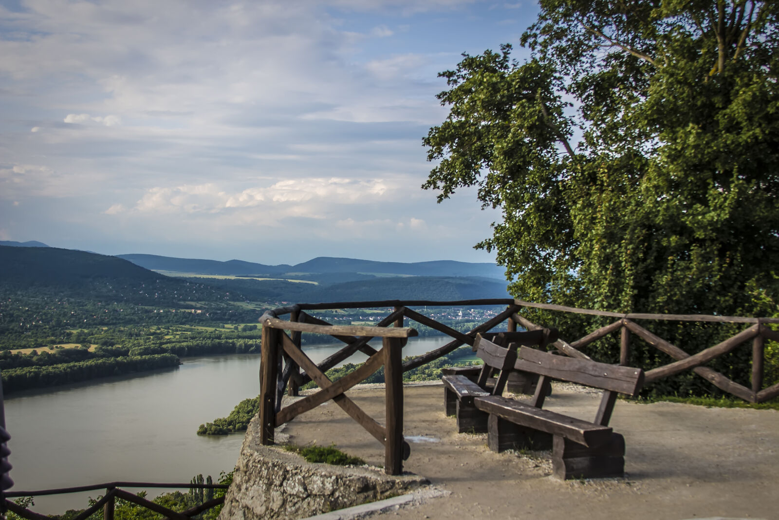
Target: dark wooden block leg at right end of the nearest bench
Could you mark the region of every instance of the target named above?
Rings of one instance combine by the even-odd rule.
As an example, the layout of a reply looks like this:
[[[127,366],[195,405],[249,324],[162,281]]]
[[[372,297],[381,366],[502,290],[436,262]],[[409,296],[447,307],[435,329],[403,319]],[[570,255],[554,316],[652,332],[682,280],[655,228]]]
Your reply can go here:
[[[555,435],[552,472],[560,479],[625,476],[625,437],[612,433],[612,440],[608,443],[586,447]]]

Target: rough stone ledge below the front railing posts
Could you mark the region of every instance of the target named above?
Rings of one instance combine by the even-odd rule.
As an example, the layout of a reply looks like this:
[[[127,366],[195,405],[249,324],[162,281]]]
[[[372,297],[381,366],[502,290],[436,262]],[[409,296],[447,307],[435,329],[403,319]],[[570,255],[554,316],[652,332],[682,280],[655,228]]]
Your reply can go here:
[[[300,455],[259,444],[259,420],[246,431],[220,520],[305,518],[407,493],[428,483],[415,475],[306,462]]]

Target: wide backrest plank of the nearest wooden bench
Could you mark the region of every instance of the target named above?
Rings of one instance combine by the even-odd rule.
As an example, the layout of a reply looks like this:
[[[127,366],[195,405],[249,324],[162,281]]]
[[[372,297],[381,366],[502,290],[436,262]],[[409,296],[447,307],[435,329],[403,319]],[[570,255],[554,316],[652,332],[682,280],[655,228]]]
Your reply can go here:
[[[643,384],[643,371],[631,366],[608,365],[583,359],[554,356],[534,348],[520,348],[516,370],[586,384],[589,387],[636,395]]]

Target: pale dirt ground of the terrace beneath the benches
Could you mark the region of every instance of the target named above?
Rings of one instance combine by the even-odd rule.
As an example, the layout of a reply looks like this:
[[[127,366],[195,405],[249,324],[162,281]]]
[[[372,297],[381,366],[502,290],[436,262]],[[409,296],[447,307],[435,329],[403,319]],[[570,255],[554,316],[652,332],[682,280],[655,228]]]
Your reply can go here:
[[[383,389],[348,392],[383,422]],[[545,408],[592,419],[599,394],[557,386]],[[486,434],[456,433],[440,385],[407,387],[411,457],[404,469],[451,492],[393,518],[779,518],[779,412],[618,401],[611,425],[625,436],[626,478],[562,482],[545,458],[492,453]],[[383,448],[332,401],[299,416],[296,444],[336,444],[366,462]],[[435,440],[435,441],[429,441]]]

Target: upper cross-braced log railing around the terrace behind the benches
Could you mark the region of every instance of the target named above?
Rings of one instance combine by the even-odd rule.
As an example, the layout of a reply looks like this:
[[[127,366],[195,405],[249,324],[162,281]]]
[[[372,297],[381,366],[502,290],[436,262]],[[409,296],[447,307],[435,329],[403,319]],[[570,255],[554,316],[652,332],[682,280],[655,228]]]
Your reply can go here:
[[[506,310],[498,313],[492,319],[471,329],[460,332],[446,324],[427,317],[417,310],[409,307],[421,306],[506,306]],[[306,311],[310,310],[335,310],[335,309],[362,309],[362,308],[392,308],[392,311],[375,327],[355,327],[333,325],[317,317],[313,317]],[[281,426],[295,416],[306,412],[316,405],[329,399],[333,399],[345,412],[357,423],[368,430],[380,443],[385,446],[385,471],[390,474],[402,472],[402,460],[407,458],[409,447],[403,440],[403,387],[400,384],[402,373],[418,366],[425,365],[434,359],[446,356],[461,345],[474,344],[476,334],[486,335],[488,338],[495,332],[493,328],[503,322],[507,331],[516,331],[516,328],[524,327],[529,331],[541,329],[541,325],[534,324],[527,317],[523,317],[523,308],[536,308],[559,311],[564,313],[588,314],[599,317],[615,317],[617,320],[596,331],[590,332],[583,338],[567,342],[563,339],[554,341],[554,346],[566,356],[590,359],[580,348],[589,345],[597,339],[604,338],[608,334],[619,331],[620,333],[620,364],[628,365],[630,355],[630,334],[646,341],[647,344],[664,352],[674,362],[648,370],[646,373],[647,384],[671,377],[675,374],[692,370],[700,377],[708,380],[714,386],[720,388],[735,397],[749,402],[764,402],[779,395],[779,384],[763,388],[763,366],[765,339],[779,341],[779,332],[774,331],[767,324],[779,323],[777,318],[754,317],[727,317],[709,316],[700,314],[650,314],[650,313],[613,313],[608,311],[576,309],[573,307],[558,306],[546,303],[524,302],[519,299],[474,299],[453,302],[435,302],[428,300],[390,300],[372,302],[333,302],[333,303],[301,303],[294,306],[281,307],[267,311],[260,318],[263,324],[263,359],[260,368],[261,381],[261,408],[260,418],[263,425],[263,444],[273,444],[273,429]],[[289,315],[289,320],[280,320],[280,316]],[[400,363],[401,348],[406,339],[416,335],[416,331],[404,327],[404,319],[414,320],[419,324],[431,327],[442,334],[453,338],[446,345],[426,352],[421,356],[407,359]],[[712,323],[743,323],[751,324],[746,330],[733,335],[719,344],[690,355],[676,345],[659,338],[646,328],[636,324],[636,320],[681,320],[690,322]],[[289,334],[287,332],[289,331]],[[338,352],[325,359],[319,365],[312,362],[301,350],[302,333],[329,334],[346,345]],[[382,349],[376,351],[368,345],[372,338],[382,338]],[[752,387],[728,379],[707,366],[712,359],[724,356],[733,351],[746,341],[752,341]],[[265,348],[265,345],[272,345]],[[362,352],[368,356],[368,361],[358,370],[349,374],[336,383],[333,383],[325,372],[338,363],[342,363],[355,352]],[[282,363],[282,359],[284,363]],[[354,402],[344,395],[344,392],[354,387],[369,377],[381,366],[385,366],[386,377],[386,423],[385,426],[377,423],[375,419],[367,416],[365,412],[354,405]],[[642,367],[646,368],[646,367]],[[301,369],[303,372],[301,373]],[[298,387],[313,380],[322,389],[316,394],[309,395],[301,401],[281,408],[281,398],[285,391],[291,395],[298,394]]]

